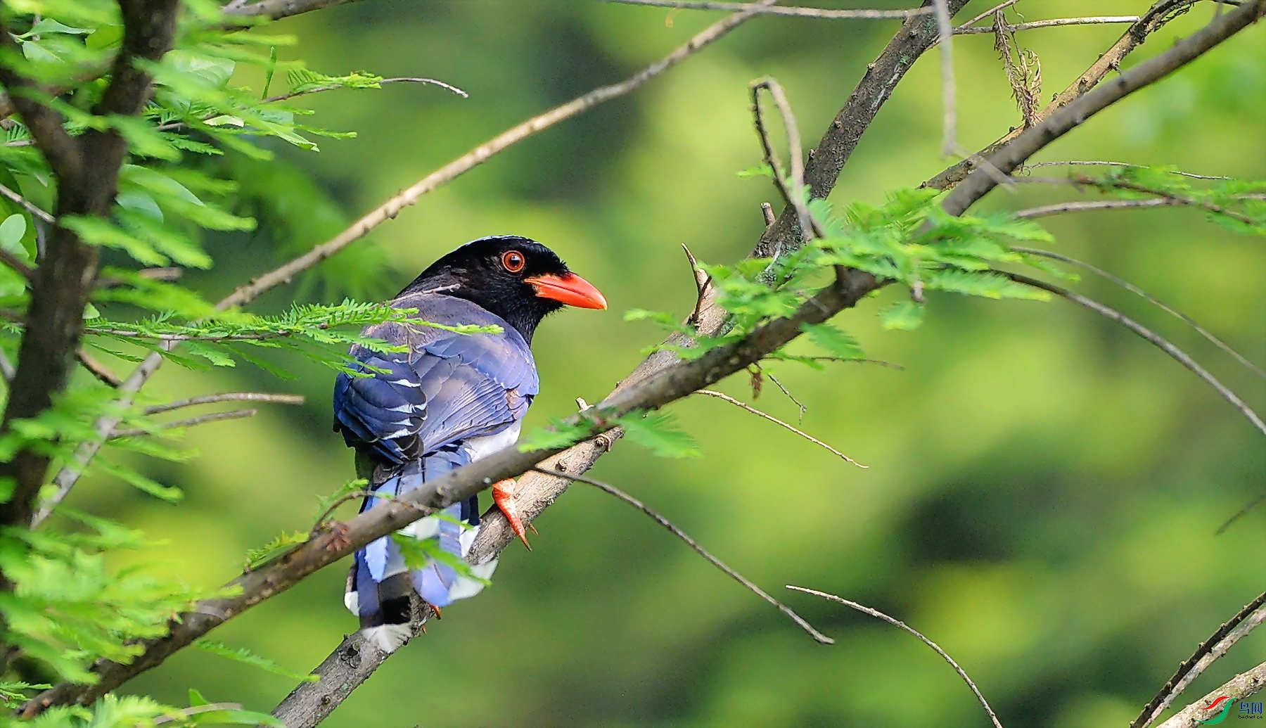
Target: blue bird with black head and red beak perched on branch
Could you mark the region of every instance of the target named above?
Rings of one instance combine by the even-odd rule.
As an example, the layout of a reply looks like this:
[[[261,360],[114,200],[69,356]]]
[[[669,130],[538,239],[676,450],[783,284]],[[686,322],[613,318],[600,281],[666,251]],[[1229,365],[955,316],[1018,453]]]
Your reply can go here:
[[[424,322],[496,327],[499,333],[398,322],[362,330],[405,349],[353,346],[348,371],[334,381],[334,432],[354,449],[357,475],[368,481],[362,513],[513,444],[539,390],[530,348],[537,325],[563,306],[605,309],[606,299],[548,247],[520,235],[492,235],[441,257],[387,304],[417,309],[413,318]],[[514,480],[494,484],[492,499],[528,546],[515,487]],[[460,558],[479,523],[476,495],[401,533]],[[443,561],[428,558],[410,570],[391,537],[356,553],[344,604],[360,617],[367,642],[394,652],[410,634],[411,594],[442,609],[479,594],[496,568],[495,560],[473,566],[471,579]]]

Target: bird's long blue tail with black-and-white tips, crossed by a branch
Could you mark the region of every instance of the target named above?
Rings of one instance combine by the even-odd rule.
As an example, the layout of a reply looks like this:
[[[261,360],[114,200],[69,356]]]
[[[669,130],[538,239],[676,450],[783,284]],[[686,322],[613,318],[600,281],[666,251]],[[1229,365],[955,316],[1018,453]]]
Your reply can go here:
[[[430,461],[433,457],[425,460]],[[362,511],[380,500],[417,487],[423,482],[423,475],[436,477],[438,474],[430,472],[437,470],[436,465],[447,471],[465,463],[419,463],[418,468],[406,466],[405,472],[375,487]],[[410,474],[409,470],[414,472]],[[400,536],[380,538],[356,553],[344,596],[347,608],[360,615],[366,639],[384,652],[395,651],[409,638],[413,594],[432,606],[444,608],[482,591],[496,568],[496,560],[492,560],[472,566],[467,574],[460,574],[452,565],[436,557],[427,557],[420,566],[418,560],[405,557],[405,549],[413,553],[438,549],[463,558],[479,533],[477,498],[453,504],[441,514],[417,520],[398,533]],[[401,548],[396,541],[401,536],[423,543],[418,544],[418,549],[410,548],[408,543]],[[410,561],[414,568],[409,568]]]

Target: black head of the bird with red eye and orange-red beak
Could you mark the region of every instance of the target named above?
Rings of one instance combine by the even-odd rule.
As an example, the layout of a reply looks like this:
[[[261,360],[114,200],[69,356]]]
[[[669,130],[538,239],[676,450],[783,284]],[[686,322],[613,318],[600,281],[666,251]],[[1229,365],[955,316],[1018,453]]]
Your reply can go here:
[[[471,241],[430,265],[400,295],[466,299],[501,317],[532,343],[541,319],[565,305],[605,309],[606,299],[541,243],[518,235]]]

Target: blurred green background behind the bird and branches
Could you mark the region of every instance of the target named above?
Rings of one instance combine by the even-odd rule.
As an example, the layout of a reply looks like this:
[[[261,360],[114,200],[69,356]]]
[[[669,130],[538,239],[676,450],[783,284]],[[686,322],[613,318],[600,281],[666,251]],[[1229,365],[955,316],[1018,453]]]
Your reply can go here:
[[[984,10],[974,3],[961,18]],[[1027,19],[1138,14],[1144,1],[1039,1]],[[843,5],[834,5],[843,6]],[[860,6],[860,5],[852,5]],[[1127,65],[1206,22],[1200,4]],[[313,70],[430,76],[434,86],[313,96],[314,122],[356,130],[319,153],[277,148],[237,171],[263,225],[216,242],[219,266],[192,279],[220,295],[285,251],[323,242],[439,165],[519,120],[618,81],[718,18],[580,0],[367,0],[279,23]],[[515,233],[553,247],[606,294],[606,313],[568,311],[536,339],[542,395],[529,427],[600,399],[661,338],[624,323],[630,308],[684,314],[686,243],[709,262],[746,254],[768,181],[747,84],[786,87],[806,144],[825,128],[896,22],[763,18],[632,96],[561,124],[422,199],[358,248],[327,262],[290,300],[385,299],[471,238]],[[1043,97],[1062,89],[1120,25],[1023,33],[1041,57]],[[1042,160],[1119,160],[1266,177],[1266,42],[1253,28],[1210,57],[1101,114]],[[991,35],[958,37],[958,135],[980,148],[1018,123]],[[832,200],[882,201],[952,160],[939,154],[939,61],[925,56],[866,134]],[[1043,170],[1060,173],[1058,170]],[[1081,199],[1072,189],[998,190],[986,208]],[[1093,198],[1093,195],[1086,195]],[[1056,248],[1142,285],[1266,362],[1266,247],[1191,210],[1048,219]],[[279,252],[282,251],[282,252]],[[311,280],[306,281],[311,284]],[[1109,284],[1076,287],[1186,347],[1258,409],[1266,382],[1176,319]],[[1124,725],[1222,620],[1266,582],[1266,508],[1218,525],[1266,487],[1266,448],[1239,414],[1160,351],[1063,301],[932,298],[913,333],[882,332],[890,290],[838,323],[870,356],[904,371],[774,367],[808,405],[803,427],[862,463],[844,463],[723,401],[671,408],[704,457],[667,461],[622,443],[594,476],[672,518],[720,558],[837,639],[813,643],[661,528],[580,486],[539,522],[534,551],[511,546],[495,584],[446,610],[327,722],[365,725],[985,725],[967,687],[914,638],[785,584],[885,610],[941,643],[1009,727]],[[301,361],[277,381],[249,367],[165,367],[151,394],[299,392],[309,404],[191,430],[187,465],[151,462],[186,493],[172,506],[106,477],[72,505],[166,541],[167,567],[194,584],[234,576],[243,552],[304,529],[316,496],[352,477],[329,428],[333,373]],[[119,365],[122,366],[122,365]],[[725,382],[743,399],[746,377]],[[772,386],[758,406],[789,419]],[[296,671],[356,628],[329,568],[233,620],[213,638]],[[1180,701],[1266,658],[1244,642]],[[181,701],[267,709],[292,681],[186,650],[133,684]]]

